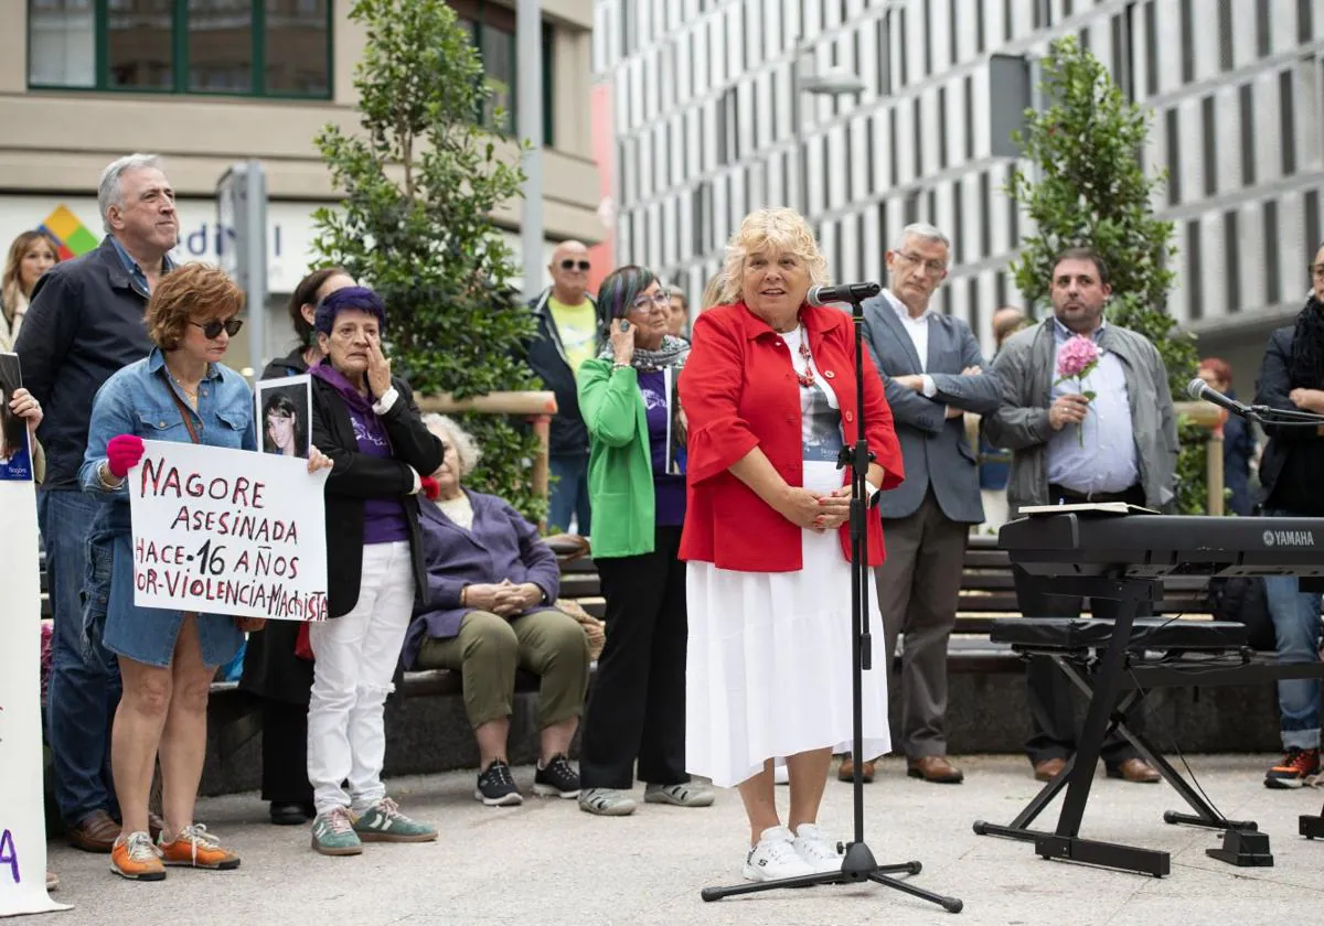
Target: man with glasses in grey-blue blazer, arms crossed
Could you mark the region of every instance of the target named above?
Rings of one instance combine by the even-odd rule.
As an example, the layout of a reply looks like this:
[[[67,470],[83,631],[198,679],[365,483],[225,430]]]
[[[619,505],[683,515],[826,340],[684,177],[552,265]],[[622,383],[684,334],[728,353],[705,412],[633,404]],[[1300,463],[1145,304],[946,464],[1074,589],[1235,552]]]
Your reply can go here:
[[[970,327],[929,308],[947,279],[952,245],[932,225],[908,225],[887,251],[890,287],[865,303],[865,339],[887,388],[906,482],[879,504],[887,558],[878,568],[878,609],[884,652],[903,639],[894,676],[902,726],[894,747],[907,774],[956,784],[964,778],[947,758],[947,640],[956,624],[961,565],[970,525],[984,520],[974,450],[965,413],[996,411],[997,380],[985,373]],[[862,770],[873,777],[873,763]],[[849,780],[850,759],[838,775]]]

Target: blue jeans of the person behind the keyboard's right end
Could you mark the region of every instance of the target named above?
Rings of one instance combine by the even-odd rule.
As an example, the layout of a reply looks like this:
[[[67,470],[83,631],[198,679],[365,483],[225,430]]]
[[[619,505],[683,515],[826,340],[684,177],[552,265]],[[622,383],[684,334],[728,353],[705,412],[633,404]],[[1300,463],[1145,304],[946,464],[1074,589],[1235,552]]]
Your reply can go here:
[[[1266,511],[1264,515],[1291,517],[1292,512]],[[1320,594],[1301,591],[1295,575],[1266,575],[1264,593],[1278,638],[1278,661],[1316,661],[1320,644]],[[1278,708],[1283,714],[1283,749],[1319,749],[1320,680],[1279,681]]]

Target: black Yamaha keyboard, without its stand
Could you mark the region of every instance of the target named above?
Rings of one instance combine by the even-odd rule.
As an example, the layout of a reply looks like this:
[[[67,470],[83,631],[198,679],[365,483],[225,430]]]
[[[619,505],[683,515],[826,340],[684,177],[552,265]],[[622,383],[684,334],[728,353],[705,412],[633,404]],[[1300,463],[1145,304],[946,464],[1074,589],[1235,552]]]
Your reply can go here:
[[[1039,513],[1004,524],[998,546],[1034,575],[1324,577],[1324,517]]]

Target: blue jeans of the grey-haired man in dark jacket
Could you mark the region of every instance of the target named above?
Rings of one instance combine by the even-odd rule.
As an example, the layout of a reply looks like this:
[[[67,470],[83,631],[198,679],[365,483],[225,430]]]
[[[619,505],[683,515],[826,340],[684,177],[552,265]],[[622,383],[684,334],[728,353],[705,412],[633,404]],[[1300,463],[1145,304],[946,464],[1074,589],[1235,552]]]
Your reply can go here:
[[[110,778],[110,726],[119,704],[119,669],[94,640],[86,659],[82,589],[86,541],[101,501],[78,491],[37,493],[46,546],[46,577],[56,632],[50,653],[48,717],[54,754],[56,803],[70,827],[98,810],[118,816]]]

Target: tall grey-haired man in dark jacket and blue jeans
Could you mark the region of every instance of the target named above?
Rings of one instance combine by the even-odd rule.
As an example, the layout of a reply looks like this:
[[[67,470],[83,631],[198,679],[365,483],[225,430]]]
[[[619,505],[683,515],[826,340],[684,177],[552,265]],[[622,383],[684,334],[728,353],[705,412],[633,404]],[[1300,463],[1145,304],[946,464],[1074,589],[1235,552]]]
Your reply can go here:
[[[15,352],[23,382],[45,407],[37,437],[46,451],[46,479],[37,517],[46,545],[46,574],[56,635],[50,668],[50,746],[56,802],[69,841],[110,852],[119,824],[110,787],[110,722],[119,704],[119,669],[93,640],[82,643],[86,542],[103,513],[78,484],[87,448],[93,398],[122,366],[151,349],[143,312],[179,243],[175,190],[154,155],[110,164],[97,189],[106,237],[101,246],[57,263],[37,280]],[[160,818],[151,819],[152,836]]]

